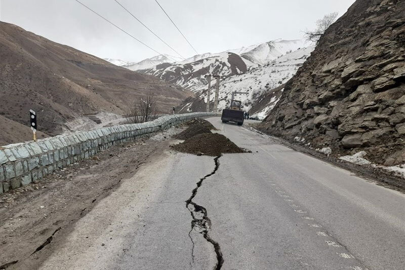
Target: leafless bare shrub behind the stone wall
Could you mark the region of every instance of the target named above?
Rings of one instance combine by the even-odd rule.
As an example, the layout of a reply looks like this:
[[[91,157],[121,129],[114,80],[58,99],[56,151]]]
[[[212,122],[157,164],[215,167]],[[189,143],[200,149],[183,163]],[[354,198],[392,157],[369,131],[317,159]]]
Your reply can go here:
[[[155,120],[158,115],[155,94],[148,92],[145,98],[135,101],[127,113],[128,123],[137,124]]]

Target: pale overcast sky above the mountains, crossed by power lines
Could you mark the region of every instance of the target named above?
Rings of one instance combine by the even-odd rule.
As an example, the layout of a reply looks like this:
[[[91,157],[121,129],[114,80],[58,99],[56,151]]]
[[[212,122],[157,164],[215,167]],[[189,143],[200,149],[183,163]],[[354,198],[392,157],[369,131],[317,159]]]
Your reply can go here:
[[[302,38],[323,15],[343,15],[355,0],[158,0],[198,53]],[[160,53],[176,55],[114,0],[80,0]],[[154,0],[118,0],[184,57],[195,52]],[[101,58],[156,55],[74,0],[0,0],[0,20]]]

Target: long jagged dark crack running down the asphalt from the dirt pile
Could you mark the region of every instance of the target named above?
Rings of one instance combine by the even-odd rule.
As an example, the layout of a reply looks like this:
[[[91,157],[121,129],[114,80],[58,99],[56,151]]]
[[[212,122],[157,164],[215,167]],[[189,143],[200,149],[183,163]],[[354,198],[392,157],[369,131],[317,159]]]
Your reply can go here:
[[[224,258],[222,257],[221,247],[219,246],[218,242],[216,242],[214,239],[212,239],[209,235],[209,231],[211,229],[211,220],[208,217],[207,209],[192,201],[194,199],[195,195],[197,194],[198,188],[201,186],[201,184],[203,184],[203,181],[217,172],[217,170],[219,168],[219,158],[220,157],[221,156],[218,156],[214,159],[214,162],[215,162],[214,170],[210,174],[207,174],[203,178],[199,179],[199,181],[197,182],[197,186],[193,189],[190,198],[188,198],[188,200],[186,201],[186,207],[190,211],[190,214],[192,217],[191,229],[190,229],[190,232],[188,233],[188,236],[190,237],[190,240],[193,244],[192,250],[191,250],[190,266],[192,266],[192,263],[194,262],[194,241],[190,235],[193,229],[196,232],[203,235],[203,237],[214,246],[214,250],[217,255],[217,264],[215,265],[214,269],[217,269],[217,270],[221,269],[222,264],[224,263]]]

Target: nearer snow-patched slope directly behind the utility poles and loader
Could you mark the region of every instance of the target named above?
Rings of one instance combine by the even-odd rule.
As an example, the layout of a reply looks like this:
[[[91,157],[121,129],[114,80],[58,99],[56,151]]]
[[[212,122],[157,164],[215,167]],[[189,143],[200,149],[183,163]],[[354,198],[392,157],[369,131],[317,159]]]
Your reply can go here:
[[[220,82],[219,110],[228,105],[233,91],[247,92],[237,94],[235,99],[242,101],[242,108],[250,111],[252,116],[263,119],[275,106],[284,85],[297,72],[298,68],[311,54],[314,45],[300,48],[295,51],[287,51],[265,65],[259,65],[247,70],[244,73],[228,76]],[[210,103],[214,103],[214,87],[211,89]],[[207,85],[193,88],[196,97],[187,99],[179,110],[181,112],[205,110],[207,103]],[[262,102],[264,101],[264,102]]]

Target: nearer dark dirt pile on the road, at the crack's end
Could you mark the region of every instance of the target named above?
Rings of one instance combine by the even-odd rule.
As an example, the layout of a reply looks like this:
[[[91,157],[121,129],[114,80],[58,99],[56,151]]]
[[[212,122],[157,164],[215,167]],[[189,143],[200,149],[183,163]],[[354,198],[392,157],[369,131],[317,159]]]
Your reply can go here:
[[[221,153],[244,153],[245,150],[239,148],[227,137],[218,133],[201,133],[195,135],[184,142],[173,145],[175,150],[192,153],[195,155],[207,155],[218,157]]]

